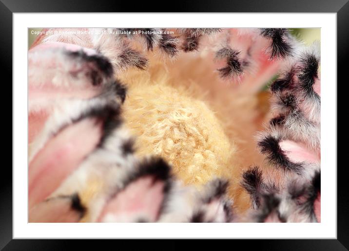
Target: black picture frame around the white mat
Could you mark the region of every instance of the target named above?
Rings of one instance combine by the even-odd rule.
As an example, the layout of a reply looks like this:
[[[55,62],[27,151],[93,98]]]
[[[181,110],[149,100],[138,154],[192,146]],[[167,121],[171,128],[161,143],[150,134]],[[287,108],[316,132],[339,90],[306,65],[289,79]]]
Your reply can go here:
[[[96,4],[96,2],[98,2]],[[149,2],[148,2],[149,3]],[[337,13],[337,81],[345,84],[346,60],[349,52],[349,3],[348,0],[201,0],[194,2],[190,0],[179,0],[174,6],[167,2],[167,7],[160,10],[158,7],[165,5],[160,1],[151,1],[151,4],[135,4],[131,1],[104,1],[104,0],[0,0],[0,52],[1,70],[8,77],[6,83],[12,83],[12,25],[13,13],[25,12],[303,12],[303,13]],[[43,25],[44,25],[43,20]],[[347,70],[348,71],[348,70]],[[346,79],[348,81],[348,79]],[[334,83],[333,83],[334,84]],[[12,88],[11,88],[12,93]],[[345,94],[342,93],[342,94]],[[9,96],[9,95],[8,95]],[[339,99],[338,110],[345,109],[344,99]],[[5,107],[8,107],[7,106]],[[342,113],[346,114],[344,110]],[[12,120],[11,120],[12,121]],[[12,125],[12,124],[11,124]],[[8,125],[9,126],[9,125]],[[340,129],[338,127],[338,129]],[[12,131],[12,126],[11,126]],[[338,133],[338,131],[337,131]],[[345,134],[344,134],[345,135]],[[12,144],[11,144],[12,146]],[[9,149],[9,147],[6,147]],[[347,147],[338,147],[338,153],[344,155]],[[12,147],[11,147],[12,149]],[[338,156],[338,155],[337,155]],[[339,155],[341,156],[341,155]],[[6,167],[6,168],[5,168]],[[332,168],[337,168],[333,166]],[[338,165],[337,168],[337,239],[302,239],[302,240],[233,240],[236,244],[255,246],[259,250],[348,250],[349,249],[349,196],[347,166]],[[12,171],[3,166],[3,174],[0,175],[0,249],[3,250],[62,250],[73,248],[73,243],[78,242],[80,249],[83,246],[89,248],[100,248],[100,244],[91,243],[90,240],[24,240],[12,237]],[[111,242],[112,240],[109,240]],[[114,240],[113,240],[114,241]],[[223,240],[222,240],[223,241]],[[240,243],[236,243],[239,241]],[[120,240],[119,240],[120,242]],[[122,241],[124,242],[124,241]],[[173,242],[173,240],[172,240]],[[200,243],[210,247],[207,241]],[[95,246],[96,245],[96,246]],[[103,245],[105,243],[103,242]],[[118,244],[120,245],[120,244]],[[127,249],[133,249],[137,242],[128,242]],[[221,243],[219,245],[227,245]],[[228,244],[231,245],[231,244]],[[177,249],[182,247],[181,242],[162,246],[164,249]],[[119,246],[121,247],[121,246]],[[217,246],[213,246],[217,247]],[[239,247],[239,246],[237,246]],[[155,247],[154,247],[155,248]],[[231,246],[234,248],[234,246]]]

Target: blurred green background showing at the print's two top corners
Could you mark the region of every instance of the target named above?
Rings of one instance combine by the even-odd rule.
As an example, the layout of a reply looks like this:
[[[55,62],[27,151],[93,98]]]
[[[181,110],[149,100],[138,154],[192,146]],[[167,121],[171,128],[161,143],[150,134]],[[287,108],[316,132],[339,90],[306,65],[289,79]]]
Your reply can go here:
[[[32,35],[31,31],[41,31],[42,28],[28,29],[28,47],[30,47],[37,35]],[[311,44],[315,40],[320,40],[320,28],[291,29],[291,34],[302,39],[306,44]]]

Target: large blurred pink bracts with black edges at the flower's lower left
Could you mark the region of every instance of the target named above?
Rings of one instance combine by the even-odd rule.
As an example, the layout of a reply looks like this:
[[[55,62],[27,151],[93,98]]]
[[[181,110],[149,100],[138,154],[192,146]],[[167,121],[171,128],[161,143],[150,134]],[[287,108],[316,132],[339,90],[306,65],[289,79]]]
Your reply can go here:
[[[29,51],[29,221],[232,220],[226,182],[198,191],[162,159],[134,155],[119,116],[125,96],[97,51],[62,42]]]

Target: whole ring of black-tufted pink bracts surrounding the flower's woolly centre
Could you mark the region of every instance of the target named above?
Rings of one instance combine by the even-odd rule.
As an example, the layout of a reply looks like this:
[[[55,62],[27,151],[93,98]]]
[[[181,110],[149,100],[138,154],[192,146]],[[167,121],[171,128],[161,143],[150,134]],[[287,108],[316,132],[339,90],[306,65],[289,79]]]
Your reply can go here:
[[[316,45],[302,49],[287,29],[178,29],[174,36],[159,33],[166,29],[58,30],[29,51],[29,221],[320,221]],[[109,35],[132,30],[154,33]],[[244,216],[233,215],[226,181],[197,190],[162,159],[136,157],[119,116],[127,90],[114,73],[146,69],[143,51],[175,58],[199,47],[208,48],[222,81],[252,82],[257,61],[283,69],[271,85],[274,117],[257,138],[271,168],[243,174],[253,207]]]

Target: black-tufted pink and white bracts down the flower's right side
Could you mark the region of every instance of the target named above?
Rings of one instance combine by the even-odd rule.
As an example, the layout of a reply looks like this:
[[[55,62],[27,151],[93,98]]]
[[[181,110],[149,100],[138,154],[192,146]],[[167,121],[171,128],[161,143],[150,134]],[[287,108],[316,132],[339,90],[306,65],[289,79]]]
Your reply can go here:
[[[251,195],[247,221],[320,222],[319,45],[300,50],[271,84],[274,117],[257,145],[275,170],[251,167],[242,186]]]

